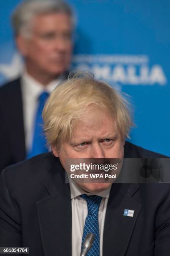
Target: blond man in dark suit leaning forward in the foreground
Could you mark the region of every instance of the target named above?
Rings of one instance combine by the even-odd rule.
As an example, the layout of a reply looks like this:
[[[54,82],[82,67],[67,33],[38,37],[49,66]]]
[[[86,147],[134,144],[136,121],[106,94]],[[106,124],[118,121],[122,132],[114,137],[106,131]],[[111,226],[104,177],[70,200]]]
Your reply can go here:
[[[117,165],[123,158],[161,157],[125,142],[132,125],[128,101],[105,82],[78,74],[52,92],[43,119],[52,153],[2,172],[0,247],[29,247],[30,256],[79,256],[92,233],[88,256],[168,256],[169,184],[71,180],[70,161],[77,170],[79,159],[116,159]]]

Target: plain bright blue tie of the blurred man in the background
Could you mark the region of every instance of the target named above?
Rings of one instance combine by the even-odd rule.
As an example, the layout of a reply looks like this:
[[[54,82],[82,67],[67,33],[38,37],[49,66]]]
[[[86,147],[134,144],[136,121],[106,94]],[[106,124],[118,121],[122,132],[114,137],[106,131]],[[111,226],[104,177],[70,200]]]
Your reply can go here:
[[[38,108],[37,108],[37,115],[35,118],[35,129],[34,129],[34,135],[33,135],[33,142],[32,142],[32,148],[30,152],[28,152],[27,159],[31,158],[32,156],[36,156],[41,153],[48,152],[48,148],[46,146],[47,141],[45,139],[45,136],[43,134],[43,120],[42,120],[42,110],[45,105],[45,101],[47,100],[47,97],[49,94],[47,92],[42,92],[38,99]]]

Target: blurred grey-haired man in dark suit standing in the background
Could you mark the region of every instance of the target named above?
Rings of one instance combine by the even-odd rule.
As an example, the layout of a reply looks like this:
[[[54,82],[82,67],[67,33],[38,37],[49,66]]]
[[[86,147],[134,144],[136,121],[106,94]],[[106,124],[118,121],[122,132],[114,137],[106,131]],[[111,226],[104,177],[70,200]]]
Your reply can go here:
[[[48,95],[67,77],[74,17],[63,1],[26,0],[12,23],[25,68],[0,88],[0,171],[48,151],[41,113]]]

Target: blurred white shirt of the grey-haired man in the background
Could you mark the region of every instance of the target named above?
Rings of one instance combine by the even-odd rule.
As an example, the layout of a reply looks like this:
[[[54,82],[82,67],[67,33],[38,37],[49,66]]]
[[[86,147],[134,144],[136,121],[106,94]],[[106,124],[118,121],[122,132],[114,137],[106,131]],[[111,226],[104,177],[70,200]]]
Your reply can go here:
[[[47,85],[42,85],[26,71],[21,77],[26,151],[29,151],[32,147],[38,98],[44,91],[50,94],[59,82],[61,82],[61,79],[56,79]]]

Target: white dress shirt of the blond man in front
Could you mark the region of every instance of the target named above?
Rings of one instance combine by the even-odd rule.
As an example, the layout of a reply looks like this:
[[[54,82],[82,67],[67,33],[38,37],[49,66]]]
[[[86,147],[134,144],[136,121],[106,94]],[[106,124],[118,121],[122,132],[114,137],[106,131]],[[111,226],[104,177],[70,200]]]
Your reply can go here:
[[[102,256],[103,230],[110,188],[111,186],[100,193],[93,194],[103,197],[99,207],[100,256]],[[72,181],[70,182],[70,192],[72,207],[72,256],[80,256],[82,234],[85,225],[85,219],[88,213],[87,202],[83,200],[80,195],[92,194],[85,192],[77,184],[75,184],[75,182]]]

